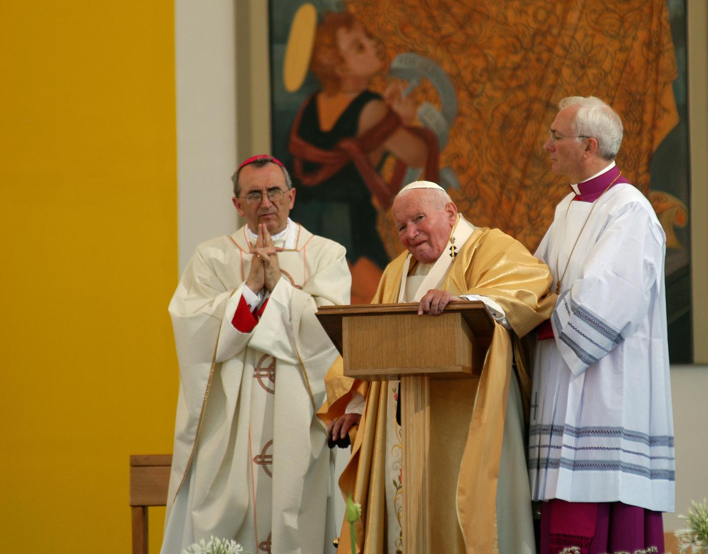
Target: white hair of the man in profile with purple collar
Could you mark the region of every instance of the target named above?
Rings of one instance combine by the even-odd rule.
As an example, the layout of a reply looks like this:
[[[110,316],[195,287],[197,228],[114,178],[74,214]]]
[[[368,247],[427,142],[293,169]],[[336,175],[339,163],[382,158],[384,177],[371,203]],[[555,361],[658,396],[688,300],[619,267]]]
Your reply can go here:
[[[598,154],[605,160],[614,160],[622,144],[622,120],[609,104],[595,96],[569,96],[558,104],[563,110],[579,106],[573,119],[573,132],[598,141]]]

